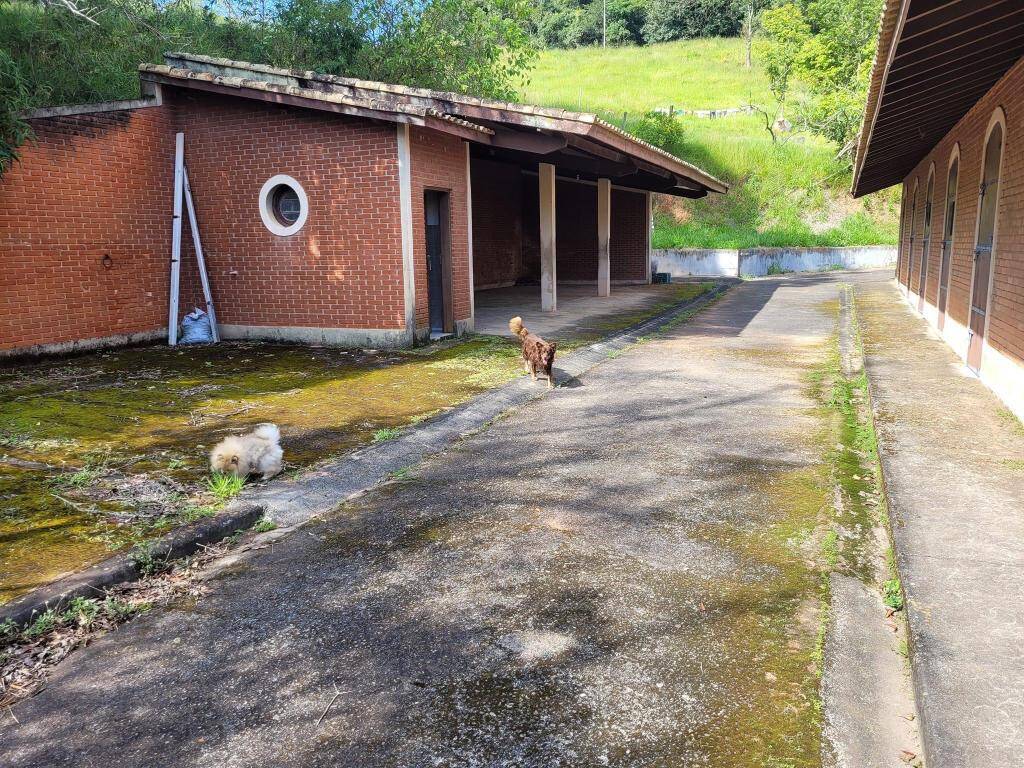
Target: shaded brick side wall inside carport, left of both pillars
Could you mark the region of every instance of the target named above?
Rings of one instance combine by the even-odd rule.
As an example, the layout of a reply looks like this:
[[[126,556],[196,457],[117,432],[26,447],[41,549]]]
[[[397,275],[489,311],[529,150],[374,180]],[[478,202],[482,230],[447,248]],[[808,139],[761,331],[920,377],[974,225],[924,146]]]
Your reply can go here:
[[[522,184],[518,166],[473,160],[473,284],[477,289],[514,284],[522,274]]]

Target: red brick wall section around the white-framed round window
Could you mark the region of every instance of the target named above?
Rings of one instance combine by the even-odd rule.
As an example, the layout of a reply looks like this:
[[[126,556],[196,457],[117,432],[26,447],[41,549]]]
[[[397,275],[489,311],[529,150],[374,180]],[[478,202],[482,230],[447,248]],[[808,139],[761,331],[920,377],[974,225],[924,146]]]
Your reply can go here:
[[[393,125],[201,93],[178,115],[220,323],[404,328]],[[286,238],[259,213],[279,173],[309,200]]]

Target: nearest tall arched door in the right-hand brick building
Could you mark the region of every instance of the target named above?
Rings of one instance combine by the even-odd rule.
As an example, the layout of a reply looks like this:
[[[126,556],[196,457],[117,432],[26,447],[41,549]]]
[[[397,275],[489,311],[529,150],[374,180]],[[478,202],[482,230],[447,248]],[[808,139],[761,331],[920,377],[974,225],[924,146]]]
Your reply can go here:
[[[999,200],[999,160],[1002,156],[1002,127],[996,124],[985,144],[984,175],[978,206],[978,241],[974,249],[974,280],[971,289],[970,342],[968,368],[981,369],[988,313],[988,282],[992,272],[992,247],[995,240],[995,214]]]

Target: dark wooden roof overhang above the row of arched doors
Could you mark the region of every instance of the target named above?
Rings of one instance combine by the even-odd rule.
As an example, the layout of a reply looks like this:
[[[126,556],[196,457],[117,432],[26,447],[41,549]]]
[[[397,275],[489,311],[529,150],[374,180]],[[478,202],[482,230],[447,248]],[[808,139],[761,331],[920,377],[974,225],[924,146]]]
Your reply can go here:
[[[886,0],[853,195],[902,181],[1022,55],[1021,0]]]

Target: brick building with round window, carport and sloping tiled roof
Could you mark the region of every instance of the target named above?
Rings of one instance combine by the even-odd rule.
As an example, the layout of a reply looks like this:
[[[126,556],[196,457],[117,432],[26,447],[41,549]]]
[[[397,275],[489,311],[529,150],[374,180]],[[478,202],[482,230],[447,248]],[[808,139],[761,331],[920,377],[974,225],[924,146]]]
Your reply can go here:
[[[187,54],[33,113],[0,177],[0,355],[167,333],[176,134],[223,338],[408,345],[474,291],[649,282],[650,195],[724,184],[593,115]],[[187,220],[181,313],[202,306]]]

